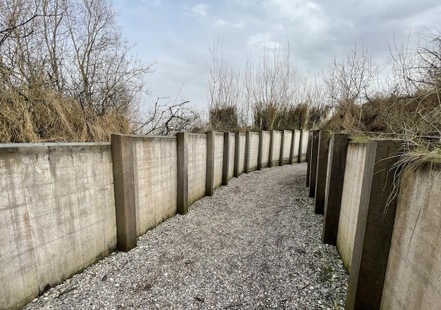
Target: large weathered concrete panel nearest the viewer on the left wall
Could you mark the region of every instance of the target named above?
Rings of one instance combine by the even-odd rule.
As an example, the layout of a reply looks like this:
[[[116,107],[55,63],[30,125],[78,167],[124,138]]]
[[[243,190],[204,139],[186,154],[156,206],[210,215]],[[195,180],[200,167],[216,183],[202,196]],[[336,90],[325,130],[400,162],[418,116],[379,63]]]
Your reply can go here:
[[[0,145],[0,176],[0,309],[115,249],[109,143]]]

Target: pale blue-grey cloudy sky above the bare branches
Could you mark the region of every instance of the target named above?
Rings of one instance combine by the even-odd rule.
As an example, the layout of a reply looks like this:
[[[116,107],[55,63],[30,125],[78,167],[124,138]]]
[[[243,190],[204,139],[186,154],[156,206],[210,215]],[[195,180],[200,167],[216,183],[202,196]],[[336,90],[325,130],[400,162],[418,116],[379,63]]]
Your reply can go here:
[[[144,63],[150,100],[178,95],[207,105],[210,46],[218,40],[228,65],[243,70],[275,44],[287,49],[304,75],[327,70],[334,56],[364,41],[373,60],[387,60],[394,38],[416,46],[418,37],[441,31],[439,0],[113,0],[118,23]],[[436,28],[438,27],[438,29]]]

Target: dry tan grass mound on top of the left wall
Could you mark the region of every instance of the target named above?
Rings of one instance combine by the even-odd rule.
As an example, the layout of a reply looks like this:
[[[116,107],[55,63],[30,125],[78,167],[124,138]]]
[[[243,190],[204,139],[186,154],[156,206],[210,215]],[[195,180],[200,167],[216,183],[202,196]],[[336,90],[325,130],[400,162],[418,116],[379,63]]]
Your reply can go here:
[[[0,143],[109,141],[129,132],[125,115],[96,115],[51,89],[0,89]]]

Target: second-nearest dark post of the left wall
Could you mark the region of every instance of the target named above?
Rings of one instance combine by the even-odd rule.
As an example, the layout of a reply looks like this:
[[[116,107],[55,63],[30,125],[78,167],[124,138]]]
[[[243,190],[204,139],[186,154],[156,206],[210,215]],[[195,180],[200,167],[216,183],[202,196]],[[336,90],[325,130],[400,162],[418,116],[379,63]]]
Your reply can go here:
[[[188,212],[188,134],[183,132],[176,134],[176,141],[178,156],[176,212],[186,214]]]

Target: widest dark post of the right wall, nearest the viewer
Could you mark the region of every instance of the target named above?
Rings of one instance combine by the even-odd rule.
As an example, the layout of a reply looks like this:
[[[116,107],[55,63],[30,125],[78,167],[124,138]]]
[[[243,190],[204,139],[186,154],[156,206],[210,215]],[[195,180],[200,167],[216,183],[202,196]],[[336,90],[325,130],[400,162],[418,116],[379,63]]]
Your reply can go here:
[[[397,207],[396,201],[386,206],[394,179],[390,169],[400,149],[401,141],[369,142],[371,167],[364,170],[345,309],[380,309]]]

